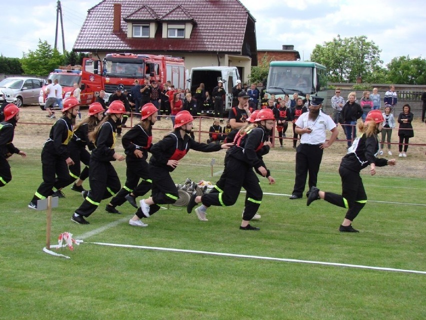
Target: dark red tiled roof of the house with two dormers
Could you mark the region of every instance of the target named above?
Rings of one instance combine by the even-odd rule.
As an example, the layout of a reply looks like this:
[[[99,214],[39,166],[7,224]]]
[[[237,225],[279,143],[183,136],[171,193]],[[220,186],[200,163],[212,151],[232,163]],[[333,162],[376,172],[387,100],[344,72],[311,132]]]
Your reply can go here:
[[[251,45],[255,59],[254,18],[238,0],[121,0],[121,31],[112,33],[113,4],[104,0],[88,10],[87,17],[74,43],[80,52],[220,52],[241,54],[245,43]],[[193,21],[190,39],[127,38],[127,23],[123,20],[151,20],[155,16],[165,21]],[[248,24],[248,22],[250,23]],[[252,27],[254,39],[245,39],[247,26]],[[245,43],[244,43],[245,41]]]

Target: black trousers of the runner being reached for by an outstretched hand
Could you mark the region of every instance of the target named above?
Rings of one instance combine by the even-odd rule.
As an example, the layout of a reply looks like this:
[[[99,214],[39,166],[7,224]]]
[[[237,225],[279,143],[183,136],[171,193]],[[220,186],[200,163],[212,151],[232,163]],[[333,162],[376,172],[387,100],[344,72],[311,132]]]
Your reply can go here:
[[[226,173],[226,177],[220,179],[224,181],[223,189],[220,192],[204,194],[201,197],[202,204],[206,207],[231,206],[238,199],[241,188],[244,188],[246,193],[242,218],[246,221],[251,220],[263,197],[256,173],[250,165],[232,157],[228,157],[223,173]]]

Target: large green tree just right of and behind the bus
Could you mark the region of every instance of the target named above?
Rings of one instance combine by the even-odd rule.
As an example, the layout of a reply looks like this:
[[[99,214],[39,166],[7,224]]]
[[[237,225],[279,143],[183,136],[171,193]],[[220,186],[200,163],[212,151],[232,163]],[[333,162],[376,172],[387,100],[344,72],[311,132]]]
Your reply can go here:
[[[356,82],[370,77],[383,62],[379,48],[366,36],[341,39],[340,35],[322,46],[316,45],[310,60],[327,67],[330,82]]]

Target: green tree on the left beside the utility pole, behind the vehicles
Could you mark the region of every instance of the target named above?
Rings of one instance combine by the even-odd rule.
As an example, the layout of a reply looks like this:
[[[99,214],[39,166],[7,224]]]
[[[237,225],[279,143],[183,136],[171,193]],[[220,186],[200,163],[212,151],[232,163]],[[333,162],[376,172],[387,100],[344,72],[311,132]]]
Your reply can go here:
[[[21,63],[25,74],[47,76],[53,69],[65,62],[64,55],[51,48],[47,41],[38,40],[37,50],[23,53]]]

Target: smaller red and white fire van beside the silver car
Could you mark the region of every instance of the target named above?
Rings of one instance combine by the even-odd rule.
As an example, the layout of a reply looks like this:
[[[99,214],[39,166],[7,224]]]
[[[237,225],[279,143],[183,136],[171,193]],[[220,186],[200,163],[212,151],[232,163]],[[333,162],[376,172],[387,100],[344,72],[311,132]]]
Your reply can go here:
[[[73,85],[77,83],[80,86],[81,94],[80,100],[81,105],[89,105],[93,103],[96,99],[97,94],[102,89],[101,82],[96,83],[95,81],[87,81],[83,79],[83,72],[80,66],[75,67],[60,67],[61,69],[54,69],[53,72],[49,74],[47,79],[51,79],[52,83],[57,79],[58,84],[62,87],[62,98],[67,98],[72,96],[74,91]],[[44,83],[43,87],[40,90],[40,95],[38,97],[38,103],[40,106],[44,106],[46,101],[45,89],[47,86],[47,80]]]

